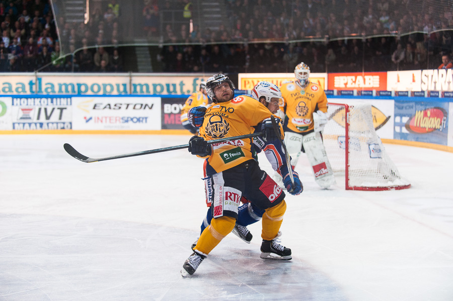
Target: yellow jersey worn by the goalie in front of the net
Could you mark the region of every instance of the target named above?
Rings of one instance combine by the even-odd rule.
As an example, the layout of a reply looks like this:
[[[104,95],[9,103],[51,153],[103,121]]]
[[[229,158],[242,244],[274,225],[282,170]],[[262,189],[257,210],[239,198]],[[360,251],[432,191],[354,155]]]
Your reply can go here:
[[[294,82],[280,87],[283,98],[281,112],[285,114],[283,128],[294,133],[306,133],[314,128],[313,112],[327,113],[327,96],[319,84],[310,82],[301,89]]]

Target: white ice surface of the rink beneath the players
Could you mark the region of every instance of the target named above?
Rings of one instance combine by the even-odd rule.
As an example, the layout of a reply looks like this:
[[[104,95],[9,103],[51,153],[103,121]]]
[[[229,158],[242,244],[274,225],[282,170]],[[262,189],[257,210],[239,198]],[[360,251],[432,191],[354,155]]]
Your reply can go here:
[[[453,300],[453,154],[388,145],[412,187],[322,190],[305,155],[287,195],[289,262],[259,258],[261,224],[180,270],[206,212],[190,136],[0,135],[0,300]],[[264,170],[270,169],[260,157]]]

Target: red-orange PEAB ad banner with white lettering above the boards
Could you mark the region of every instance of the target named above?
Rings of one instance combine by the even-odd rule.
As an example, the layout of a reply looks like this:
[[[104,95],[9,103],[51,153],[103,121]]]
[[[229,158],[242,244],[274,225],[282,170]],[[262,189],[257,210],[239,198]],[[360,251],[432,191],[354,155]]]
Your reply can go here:
[[[387,90],[387,72],[329,73],[329,90]]]

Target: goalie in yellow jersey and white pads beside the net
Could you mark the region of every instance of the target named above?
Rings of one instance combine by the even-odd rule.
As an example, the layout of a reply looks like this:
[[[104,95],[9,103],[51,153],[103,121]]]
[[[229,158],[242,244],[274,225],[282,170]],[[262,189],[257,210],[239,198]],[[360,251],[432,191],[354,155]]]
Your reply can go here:
[[[327,123],[327,96],[322,87],[310,82],[310,67],[304,63],[294,69],[295,80],[281,85],[283,102],[280,114],[284,143],[294,168],[301,151],[312,165],[315,181],[323,188],[335,184],[335,177],[322,142]]]

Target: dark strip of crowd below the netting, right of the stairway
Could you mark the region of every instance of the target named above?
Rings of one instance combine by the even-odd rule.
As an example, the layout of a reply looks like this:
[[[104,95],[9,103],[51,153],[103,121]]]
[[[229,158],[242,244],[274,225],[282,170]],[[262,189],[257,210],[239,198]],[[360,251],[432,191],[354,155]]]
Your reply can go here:
[[[337,40],[330,42],[165,46],[159,58],[164,72],[292,72],[298,62],[312,72],[362,72],[437,68],[428,65],[429,36]]]

